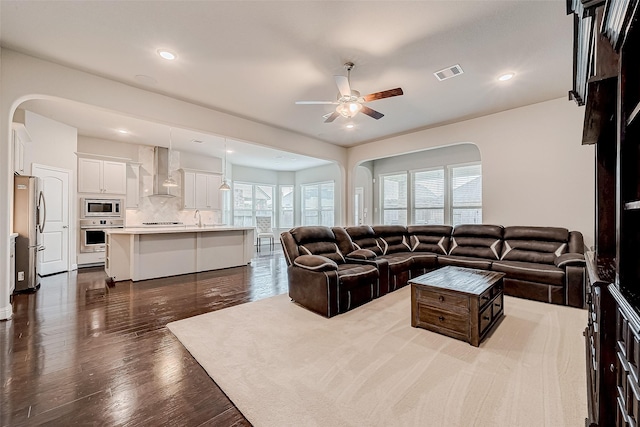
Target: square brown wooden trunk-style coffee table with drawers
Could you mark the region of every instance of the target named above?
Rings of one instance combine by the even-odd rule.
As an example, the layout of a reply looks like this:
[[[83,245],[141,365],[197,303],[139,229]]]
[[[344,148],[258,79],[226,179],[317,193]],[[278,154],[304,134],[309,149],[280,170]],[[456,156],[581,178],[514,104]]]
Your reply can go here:
[[[411,326],[478,347],[504,315],[504,273],[442,267],[411,284]]]

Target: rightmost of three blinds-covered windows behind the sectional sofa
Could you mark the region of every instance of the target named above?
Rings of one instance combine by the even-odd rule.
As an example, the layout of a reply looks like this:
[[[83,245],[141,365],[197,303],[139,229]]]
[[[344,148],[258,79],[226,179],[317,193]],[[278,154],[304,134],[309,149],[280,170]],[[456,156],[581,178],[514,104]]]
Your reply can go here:
[[[451,224],[482,223],[482,166],[451,168]]]

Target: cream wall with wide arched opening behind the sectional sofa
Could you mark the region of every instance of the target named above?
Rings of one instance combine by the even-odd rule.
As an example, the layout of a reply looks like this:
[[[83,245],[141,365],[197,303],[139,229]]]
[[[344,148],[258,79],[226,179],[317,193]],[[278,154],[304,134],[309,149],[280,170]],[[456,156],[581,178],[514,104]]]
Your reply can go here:
[[[556,99],[353,147],[347,170],[366,160],[470,142],[482,158],[484,223],[566,227],[581,231],[591,245],[594,150],[581,145],[583,120],[583,107]]]

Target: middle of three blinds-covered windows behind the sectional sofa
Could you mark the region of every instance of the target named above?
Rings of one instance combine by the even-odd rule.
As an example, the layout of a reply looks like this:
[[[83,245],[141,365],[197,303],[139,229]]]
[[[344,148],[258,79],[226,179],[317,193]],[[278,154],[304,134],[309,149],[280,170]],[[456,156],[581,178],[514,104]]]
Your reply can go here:
[[[413,173],[412,224],[444,224],[444,169]]]

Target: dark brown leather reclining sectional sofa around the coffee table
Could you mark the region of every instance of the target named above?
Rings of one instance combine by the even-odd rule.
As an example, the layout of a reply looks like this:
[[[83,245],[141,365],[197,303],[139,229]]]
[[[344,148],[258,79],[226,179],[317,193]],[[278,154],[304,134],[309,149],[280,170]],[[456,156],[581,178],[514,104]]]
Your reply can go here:
[[[289,296],[331,317],[445,265],[500,271],[506,295],[583,307],[582,234],[558,227],[296,227],[281,234]]]

